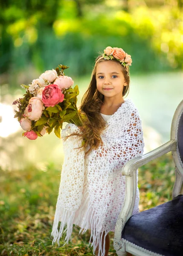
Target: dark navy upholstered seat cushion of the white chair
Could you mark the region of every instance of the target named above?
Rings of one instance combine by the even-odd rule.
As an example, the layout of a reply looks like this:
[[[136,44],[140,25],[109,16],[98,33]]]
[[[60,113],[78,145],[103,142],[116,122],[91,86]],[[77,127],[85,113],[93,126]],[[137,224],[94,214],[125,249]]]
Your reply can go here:
[[[183,195],[132,215],[122,238],[164,256],[183,256]]]

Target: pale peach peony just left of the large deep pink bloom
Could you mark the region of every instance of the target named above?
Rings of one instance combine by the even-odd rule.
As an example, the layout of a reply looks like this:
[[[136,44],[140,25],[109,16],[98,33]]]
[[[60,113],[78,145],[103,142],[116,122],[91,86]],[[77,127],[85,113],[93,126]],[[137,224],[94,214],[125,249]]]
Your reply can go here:
[[[43,102],[41,102],[38,97],[32,97],[29,99],[29,104],[27,105],[24,114],[29,119],[37,121],[40,119],[44,109]]]

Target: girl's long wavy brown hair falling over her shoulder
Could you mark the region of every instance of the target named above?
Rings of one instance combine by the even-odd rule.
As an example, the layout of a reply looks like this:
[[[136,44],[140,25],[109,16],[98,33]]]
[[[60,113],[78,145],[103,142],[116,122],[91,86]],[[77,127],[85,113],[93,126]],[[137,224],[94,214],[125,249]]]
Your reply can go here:
[[[99,55],[96,61],[102,57],[102,54]],[[104,58],[99,60],[99,62],[107,61]],[[111,61],[116,61],[115,59]],[[123,67],[119,61],[116,61],[122,68],[122,73],[124,75],[127,86],[123,87],[122,96],[129,93],[129,84],[130,84],[130,76],[129,76],[129,66]],[[89,154],[92,149],[97,149],[99,145],[103,145],[102,139],[100,137],[101,132],[106,127],[106,122],[100,114],[100,109],[102,107],[104,101],[104,95],[97,90],[96,87],[96,67],[97,64],[93,67],[93,71],[91,74],[91,81],[87,91],[84,93],[81,99],[81,106],[79,108],[79,112],[85,118],[83,119],[83,125],[80,133],[73,133],[66,137],[70,137],[73,135],[82,136],[85,138],[85,144],[79,148],[83,148],[85,151],[85,155]],[[128,95],[128,94],[127,94]],[[65,137],[64,137],[65,138]],[[89,148],[88,151],[86,149]]]

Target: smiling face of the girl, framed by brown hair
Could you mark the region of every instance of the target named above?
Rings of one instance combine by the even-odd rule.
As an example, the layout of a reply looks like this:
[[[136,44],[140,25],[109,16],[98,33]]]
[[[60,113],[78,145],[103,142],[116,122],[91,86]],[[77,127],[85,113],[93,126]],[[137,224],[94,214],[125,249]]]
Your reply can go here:
[[[118,63],[108,60],[97,64],[96,87],[105,97],[117,96],[116,99],[122,99],[122,90],[126,85],[122,67]]]

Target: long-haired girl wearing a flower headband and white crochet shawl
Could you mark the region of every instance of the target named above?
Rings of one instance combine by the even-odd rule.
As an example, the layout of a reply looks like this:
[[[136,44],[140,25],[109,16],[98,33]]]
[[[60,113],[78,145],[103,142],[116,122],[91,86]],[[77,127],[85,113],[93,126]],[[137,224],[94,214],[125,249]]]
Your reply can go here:
[[[142,156],[144,150],[139,112],[131,99],[123,98],[129,90],[131,63],[131,55],[123,49],[107,47],[96,58],[90,85],[81,100],[83,126],[67,124],[62,130],[64,163],[52,228],[53,243],[59,244],[67,225],[64,232],[67,231],[68,244],[76,224],[84,229],[83,233],[91,230],[93,254],[107,256],[108,233],[114,232],[125,199],[122,166]],[[83,145],[84,138],[87,140]],[[138,205],[137,186],[133,214],[139,212]]]

